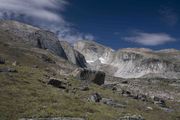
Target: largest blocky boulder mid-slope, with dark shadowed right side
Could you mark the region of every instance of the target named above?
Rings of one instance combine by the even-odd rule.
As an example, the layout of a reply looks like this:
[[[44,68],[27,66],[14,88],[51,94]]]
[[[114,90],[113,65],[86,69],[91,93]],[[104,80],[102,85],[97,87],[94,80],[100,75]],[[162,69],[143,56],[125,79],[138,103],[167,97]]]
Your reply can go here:
[[[76,69],[73,76],[83,81],[90,81],[97,85],[104,84],[105,73],[101,71],[94,71],[89,69]]]

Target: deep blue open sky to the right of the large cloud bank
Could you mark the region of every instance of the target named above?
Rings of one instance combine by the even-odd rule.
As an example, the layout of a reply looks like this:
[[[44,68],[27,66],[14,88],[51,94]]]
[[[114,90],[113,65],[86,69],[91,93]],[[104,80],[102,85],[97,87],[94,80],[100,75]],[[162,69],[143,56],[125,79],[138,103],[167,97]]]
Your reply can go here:
[[[93,34],[102,44],[114,49],[180,49],[179,0],[71,0],[70,3],[65,19],[74,23],[79,31]],[[152,39],[153,35],[161,34],[172,39],[149,44],[135,42],[132,37],[144,38],[141,33],[147,33]],[[125,39],[128,37],[132,39]]]

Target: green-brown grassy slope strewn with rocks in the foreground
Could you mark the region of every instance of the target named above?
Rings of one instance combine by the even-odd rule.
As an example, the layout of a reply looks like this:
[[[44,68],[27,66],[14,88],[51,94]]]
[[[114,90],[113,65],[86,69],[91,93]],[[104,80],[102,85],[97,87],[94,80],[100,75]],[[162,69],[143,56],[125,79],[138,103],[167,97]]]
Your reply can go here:
[[[111,120],[126,114],[142,115],[147,120],[173,120],[180,116],[178,111],[165,113],[153,104],[122,97],[94,84],[90,85],[89,91],[77,90],[74,93],[73,88],[79,87],[81,81],[72,77],[67,79],[72,84],[69,92],[47,85],[43,81],[47,79],[46,76],[52,76],[52,74],[46,68],[56,67],[56,65],[41,60],[38,57],[40,53],[4,44],[3,41],[8,40],[8,37],[3,37],[1,34],[0,56],[6,59],[6,64],[0,65],[0,68],[13,67],[17,69],[18,73],[0,73],[0,120],[56,116]],[[19,65],[12,66],[14,61],[17,61]],[[33,68],[33,65],[39,67]],[[63,78],[58,73],[55,77]],[[88,96],[94,92],[127,104],[127,108],[113,108],[101,103],[88,102]],[[153,107],[154,110],[145,111],[147,106]]]

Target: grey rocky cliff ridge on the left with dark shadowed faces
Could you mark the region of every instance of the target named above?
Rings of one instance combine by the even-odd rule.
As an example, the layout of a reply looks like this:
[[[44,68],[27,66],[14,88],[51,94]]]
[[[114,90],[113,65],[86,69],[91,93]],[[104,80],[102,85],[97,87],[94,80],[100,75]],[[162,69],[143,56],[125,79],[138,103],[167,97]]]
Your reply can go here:
[[[86,61],[83,55],[74,50],[70,44],[60,42],[52,32],[17,21],[0,21],[0,28],[3,31],[17,36],[17,38],[12,38],[10,43],[13,42],[13,44],[22,44],[28,47],[49,50],[79,67],[86,67]],[[21,39],[18,39],[18,37]]]

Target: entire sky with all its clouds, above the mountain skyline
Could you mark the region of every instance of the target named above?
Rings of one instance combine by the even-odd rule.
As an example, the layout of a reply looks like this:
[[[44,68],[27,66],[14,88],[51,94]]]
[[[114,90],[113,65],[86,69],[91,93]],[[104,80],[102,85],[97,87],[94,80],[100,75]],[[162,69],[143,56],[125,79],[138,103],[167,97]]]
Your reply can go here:
[[[0,0],[0,19],[90,39],[113,49],[180,49],[179,0]]]

